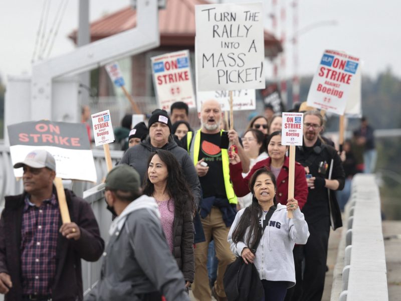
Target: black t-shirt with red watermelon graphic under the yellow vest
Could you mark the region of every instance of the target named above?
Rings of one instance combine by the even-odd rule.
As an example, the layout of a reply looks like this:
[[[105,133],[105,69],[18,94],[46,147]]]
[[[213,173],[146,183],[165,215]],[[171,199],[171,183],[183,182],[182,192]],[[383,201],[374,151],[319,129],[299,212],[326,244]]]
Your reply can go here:
[[[220,132],[206,134],[200,132],[199,159],[205,159],[209,171],[205,177],[199,177],[203,197],[226,198],[224,187],[222,150],[220,148]]]

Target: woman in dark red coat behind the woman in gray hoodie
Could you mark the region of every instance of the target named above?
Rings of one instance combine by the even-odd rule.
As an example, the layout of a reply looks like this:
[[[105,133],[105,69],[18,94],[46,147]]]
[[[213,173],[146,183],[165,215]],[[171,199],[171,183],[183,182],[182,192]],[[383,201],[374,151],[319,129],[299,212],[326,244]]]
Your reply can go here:
[[[288,165],[289,158],[285,155],[288,147],[281,145],[281,131],[273,132],[267,140],[267,153],[269,158],[259,161],[254,165],[249,174],[243,178],[241,160],[238,154],[233,153],[230,158],[230,177],[237,197],[243,197],[249,193],[248,182],[252,175],[260,168],[267,167],[276,176],[277,201],[283,205],[288,199]],[[299,208],[306,203],[308,197],[308,184],[306,183],[305,170],[302,165],[295,162],[294,199],[298,201]]]

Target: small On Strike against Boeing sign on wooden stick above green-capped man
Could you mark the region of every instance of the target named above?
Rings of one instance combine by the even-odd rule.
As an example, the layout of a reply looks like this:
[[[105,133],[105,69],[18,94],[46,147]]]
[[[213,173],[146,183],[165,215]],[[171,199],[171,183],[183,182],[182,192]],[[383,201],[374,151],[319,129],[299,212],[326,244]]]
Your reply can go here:
[[[104,158],[106,160],[107,171],[109,172],[113,168],[113,165],[111,163],[109,143],[114,141],[110,111],[102,111],[92,114],[91,116],[95,144],[96,146],[103,145]]]

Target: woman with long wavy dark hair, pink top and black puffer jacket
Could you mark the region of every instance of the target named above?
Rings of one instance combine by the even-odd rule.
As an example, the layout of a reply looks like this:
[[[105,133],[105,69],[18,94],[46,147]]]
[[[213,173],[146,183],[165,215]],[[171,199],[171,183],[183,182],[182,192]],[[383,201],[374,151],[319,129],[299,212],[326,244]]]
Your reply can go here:
[[[156,200],[168,247],[188,287],[194,275],[192,214],[196,205],[179,163],[167,150],[150,154],[143,193]]]

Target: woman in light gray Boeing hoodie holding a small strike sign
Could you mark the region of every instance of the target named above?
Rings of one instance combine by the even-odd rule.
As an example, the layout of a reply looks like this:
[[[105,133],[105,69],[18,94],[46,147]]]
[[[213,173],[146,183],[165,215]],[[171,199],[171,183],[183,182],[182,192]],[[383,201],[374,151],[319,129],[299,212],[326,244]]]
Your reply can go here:
[[[253,194],[252,204],[237,213],[228,241],[236,256],[241,256],[247,264],[255,264],[265,289],[265,301],[281,301],[287,288],[295,285],[292,249],[295,243],[306,243],[308,225],[297,200],[289,199],[286,206],[276,203],[276,178],[271,171],[257,170],[249,181],[249,189]],[[254,254],[249,246],[254,245],[258,228],[266,223],[266,214],[272,206],[277,209]],[[293,211],[294,218],[287,217],[287,210]]]

